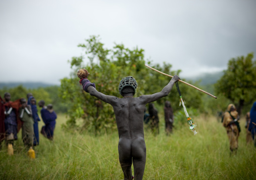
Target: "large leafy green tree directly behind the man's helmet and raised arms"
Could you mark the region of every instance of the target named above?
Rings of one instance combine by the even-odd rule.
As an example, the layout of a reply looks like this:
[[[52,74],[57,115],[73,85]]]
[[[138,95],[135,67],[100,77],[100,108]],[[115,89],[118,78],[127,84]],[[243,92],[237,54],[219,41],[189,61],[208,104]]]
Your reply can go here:
[[[120,80],[126,76],[133,76],[138,82],[135,97],[159,92],[171,79],[144,66],[146,61],[144,60],[143,49],[138,47],[125,48],[123,44],[115,44],[112,49],[106,49],[99,37],[96,36],[91,36],[85,41],[86,44],[80,44],[79,47],[85,50],[86,58],[73,57],[70,63],[74,73],[71,74],[70,78],[61,79],[60,97],[65,102],[70,102],[67,127],[76,127],[76,120],[82,118],[84,120],[83,128],[92,130],[95,134],[103,129],[105,132],[116,128],[112,107],[95,97],[91,97],[79,85],[76,73],[80,68],[88,70],[90,73],[88,79],[95,83],[97,91],[119,98],[121,96],[118,92],[118,85]],[[84,65],[86,60],[89,60],[89,63]],[[166,74],[173,75],[180,72],[180,70],[171,71],[172,66],[168,63],[160,66],[159,64],[151,65],[151,62],[147,61],[147,64]],[[184,85],[180,85],[180,87],[182,96],[184,95],[187,102],[191,102],[187,106],[200,107],[200,92]],[[179,103],[179,96],[175,87],[168,97],[158,100],[157,103],[164,105],[165,100]]]

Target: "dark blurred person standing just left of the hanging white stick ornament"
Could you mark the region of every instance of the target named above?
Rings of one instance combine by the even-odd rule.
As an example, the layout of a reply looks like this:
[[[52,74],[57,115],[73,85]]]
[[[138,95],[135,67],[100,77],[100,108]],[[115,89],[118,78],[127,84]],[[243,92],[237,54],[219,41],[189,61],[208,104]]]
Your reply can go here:
[[[165,119],[165,131],[169,135],[172,132],[173,126],[173,110],[170,101],[165,101],[164,106],[164,119]]]

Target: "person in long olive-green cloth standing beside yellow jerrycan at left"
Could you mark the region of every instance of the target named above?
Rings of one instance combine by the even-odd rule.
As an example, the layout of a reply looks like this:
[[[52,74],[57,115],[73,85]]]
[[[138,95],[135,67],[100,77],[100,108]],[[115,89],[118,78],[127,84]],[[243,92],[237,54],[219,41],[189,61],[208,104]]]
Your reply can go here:
[[[24,145],[29,148],[33,146],[34,138],[34,120],[32,118],[31,106],[26,104],[26,99],[22,98],[20,100],[21,108],[19,109],[19,116],[23,121],[22,124],[22,139]]]

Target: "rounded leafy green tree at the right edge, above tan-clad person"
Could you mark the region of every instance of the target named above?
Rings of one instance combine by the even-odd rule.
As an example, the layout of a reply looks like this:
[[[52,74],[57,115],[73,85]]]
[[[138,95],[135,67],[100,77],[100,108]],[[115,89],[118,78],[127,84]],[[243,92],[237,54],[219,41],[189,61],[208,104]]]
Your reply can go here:
[[[216,92],[231,100],[239,114],[244,105],[256,99],[256,61],[252,59],[253,53],[249,53],[229,60],[227,70],[215,84]]]

